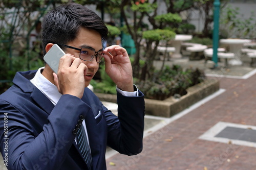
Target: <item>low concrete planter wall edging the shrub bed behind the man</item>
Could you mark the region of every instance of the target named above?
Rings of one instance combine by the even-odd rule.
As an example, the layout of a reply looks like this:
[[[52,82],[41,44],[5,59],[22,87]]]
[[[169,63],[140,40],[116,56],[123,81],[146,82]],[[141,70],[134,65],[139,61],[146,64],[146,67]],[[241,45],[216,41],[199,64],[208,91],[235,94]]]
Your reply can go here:
[[[187,89],[187,94],[180,99],[171,96],[163,101],[145,99],[145,113],[155,116],[170,117],[188,108],[206,96],[218,91],[220,83],[218,79],[206,79],[204,82]],[[96,93],[101,101],[116,103],[116,95]]]

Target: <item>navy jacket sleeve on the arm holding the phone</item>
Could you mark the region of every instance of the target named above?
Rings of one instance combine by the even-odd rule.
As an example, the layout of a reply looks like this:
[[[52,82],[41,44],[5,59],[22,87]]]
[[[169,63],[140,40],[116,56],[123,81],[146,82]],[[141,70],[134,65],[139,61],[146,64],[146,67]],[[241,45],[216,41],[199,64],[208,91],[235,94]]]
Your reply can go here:
[[[23,113],[24,108],[29,107],[24,103],[14,107],[0,101],[0,150],[7,157],[4,158],[7,168],[59,169],[75,139],[73,129],[79,116],[86,117],[85,110],[90,108],[75,96],[62,95],[48,116],[48,124],[35,135],[35,129]],[[36,109],[32,111],[34,116],[40,116],[36,115]]]

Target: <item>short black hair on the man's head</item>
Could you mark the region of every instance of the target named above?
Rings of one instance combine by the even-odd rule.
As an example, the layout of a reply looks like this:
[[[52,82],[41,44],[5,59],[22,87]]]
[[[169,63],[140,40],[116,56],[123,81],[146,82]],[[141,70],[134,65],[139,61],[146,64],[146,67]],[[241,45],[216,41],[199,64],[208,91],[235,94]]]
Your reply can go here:
[[[81,27],[97,31],[102,40],[108,36],[108,28],[102,19],[87,7],[69,3],[49,11],[42,20],[44,55],[48,43],[66,44],[76,38]]]

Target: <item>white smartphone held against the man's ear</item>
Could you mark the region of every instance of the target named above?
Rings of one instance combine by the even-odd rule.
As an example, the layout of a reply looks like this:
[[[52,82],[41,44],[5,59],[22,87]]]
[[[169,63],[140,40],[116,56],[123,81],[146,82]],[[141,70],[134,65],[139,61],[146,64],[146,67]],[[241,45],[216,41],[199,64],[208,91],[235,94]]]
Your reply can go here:
[[[52,70],[57,74],[59,67],[59,59],[64,56],[65,53],[61,48],[54,44],[51,49],[44,56],[45,62],[52,68]]]

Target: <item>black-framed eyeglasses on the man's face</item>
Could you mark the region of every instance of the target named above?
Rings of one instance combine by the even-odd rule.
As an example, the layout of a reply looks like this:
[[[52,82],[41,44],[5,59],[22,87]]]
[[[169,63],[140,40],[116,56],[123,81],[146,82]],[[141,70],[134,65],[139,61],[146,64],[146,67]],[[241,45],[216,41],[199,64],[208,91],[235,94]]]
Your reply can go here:
[[[65,45],[65,44],[58,44],[58,45],[80,51],[79,58],[83,61],[92,61],[95,56],[97,63],[100,63],[104,55],[103,50],[99,50],[98,52],[96,52],[94,48],[90,46],[76,48],[76,47]]]

